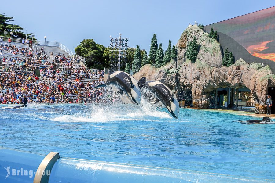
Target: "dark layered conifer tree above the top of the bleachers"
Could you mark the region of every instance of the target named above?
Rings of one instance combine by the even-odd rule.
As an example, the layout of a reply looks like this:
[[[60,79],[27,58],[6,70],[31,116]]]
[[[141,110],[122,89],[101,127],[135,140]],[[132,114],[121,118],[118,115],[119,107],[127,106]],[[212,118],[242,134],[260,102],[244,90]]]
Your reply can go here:
[[[5,36],[4,32],[7,31],[6,37],[10,37],[10,32],[13,32],[14,38],[26,38],[26,34],[22,31],[24,28],[16,24],[10,24],[9,22],[14,21],[12,17],[6,16],[4,13],[0,14],[0,35]],[[32,33],[27,34],[27,38],[31,39]],[[35,38],[34,38],[35,39]]]

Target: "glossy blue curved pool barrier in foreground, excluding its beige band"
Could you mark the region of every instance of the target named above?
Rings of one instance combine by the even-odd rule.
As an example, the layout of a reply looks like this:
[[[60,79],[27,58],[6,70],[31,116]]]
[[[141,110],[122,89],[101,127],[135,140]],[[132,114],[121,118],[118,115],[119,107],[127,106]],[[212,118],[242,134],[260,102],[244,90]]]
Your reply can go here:
[[[0,147],[0,182],[33,182],[37,168],[45,156]],[[10,167],[8,177],[7,167]],[[267,179],[73,158],[58,159],[49,173],[50,183],[275,182]]]

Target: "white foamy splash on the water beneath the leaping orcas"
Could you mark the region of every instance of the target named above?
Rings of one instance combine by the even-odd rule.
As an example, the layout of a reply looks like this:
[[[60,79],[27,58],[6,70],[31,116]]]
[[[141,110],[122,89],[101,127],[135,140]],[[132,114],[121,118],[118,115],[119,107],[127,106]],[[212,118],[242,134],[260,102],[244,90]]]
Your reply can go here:
[[[156,119],[157,118],[157,119]],[[172,117],[166,113],[156,110],[156,107],[144,99],[141,100],[141,105],[117,105],[106,104],[91,106],[86,113],[79,114],[64,114],[59,117],[50,119],[52,121],[62,122],[112,122],[112,121],[160,121],[160,119]]]

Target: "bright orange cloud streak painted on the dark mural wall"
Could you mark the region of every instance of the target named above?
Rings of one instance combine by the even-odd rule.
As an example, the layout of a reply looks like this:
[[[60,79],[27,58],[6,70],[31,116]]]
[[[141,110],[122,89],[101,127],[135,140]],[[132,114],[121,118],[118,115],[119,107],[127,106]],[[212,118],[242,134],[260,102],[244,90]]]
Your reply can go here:
[[[263,50],[268,49],[267,43],[273,42],[274,40],[270,41],[263,41],[261,43],[250,45],[248,46],[247,51],[256,57],[259,57],[261,59],[269,59],[275,62],[275,53],[261,53]]]

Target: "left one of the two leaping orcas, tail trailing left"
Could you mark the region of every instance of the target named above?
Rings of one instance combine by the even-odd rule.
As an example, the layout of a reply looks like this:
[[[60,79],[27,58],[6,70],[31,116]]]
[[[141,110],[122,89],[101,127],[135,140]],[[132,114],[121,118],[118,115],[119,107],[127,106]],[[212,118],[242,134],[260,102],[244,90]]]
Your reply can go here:
[[[134,103],[140,104],[140,88],[138,82],[130,74],[123,71],[115,71],[107,79],[106,83],[100,84],[95,88],[108,86],[110,84],[120,88],[121,95],[124,92]]]

